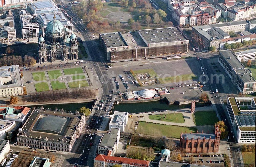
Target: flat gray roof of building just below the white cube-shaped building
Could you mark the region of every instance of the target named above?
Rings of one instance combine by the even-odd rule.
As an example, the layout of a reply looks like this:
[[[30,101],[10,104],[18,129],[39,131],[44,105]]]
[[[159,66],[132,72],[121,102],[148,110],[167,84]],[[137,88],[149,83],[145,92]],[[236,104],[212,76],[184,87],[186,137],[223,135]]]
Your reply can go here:
[[[104,133],[99,146],[114,147],[119,130],[119,128],[111,128],[109,133]]]

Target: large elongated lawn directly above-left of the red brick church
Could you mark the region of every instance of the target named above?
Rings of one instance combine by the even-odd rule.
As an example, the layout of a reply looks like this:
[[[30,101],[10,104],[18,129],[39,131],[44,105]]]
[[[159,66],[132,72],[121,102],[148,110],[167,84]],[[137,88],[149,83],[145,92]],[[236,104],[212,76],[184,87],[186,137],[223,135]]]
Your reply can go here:
[[[196,132],[196,128],[140,122],[137,133],[145,135],[160,135],[179,139],[182,131],[190,132],[191,130],[194,133]]]

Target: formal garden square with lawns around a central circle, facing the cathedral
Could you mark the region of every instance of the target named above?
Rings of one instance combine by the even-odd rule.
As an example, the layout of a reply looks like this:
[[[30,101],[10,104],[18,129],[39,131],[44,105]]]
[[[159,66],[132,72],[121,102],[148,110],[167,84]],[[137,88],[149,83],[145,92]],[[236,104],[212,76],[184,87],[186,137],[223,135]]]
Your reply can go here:
[[[23,71],[28,93],[92,86],[90,75],[86,67]]]

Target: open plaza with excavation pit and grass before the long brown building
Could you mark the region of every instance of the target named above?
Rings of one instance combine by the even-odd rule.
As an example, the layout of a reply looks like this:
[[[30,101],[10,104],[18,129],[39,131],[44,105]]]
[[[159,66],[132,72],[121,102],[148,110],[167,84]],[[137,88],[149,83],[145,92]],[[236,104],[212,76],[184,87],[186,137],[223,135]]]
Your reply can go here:
[[[108,69],[110,77],[116,77],[120,83],[119,90],[124,91],[126,87],[121,85],[122,81],[119,75],[122,75],[125,81],[129,83],[130,89],[136,89],[143,86],[158,86],[172,83],[191,83],[199,80],[202,74],[195,57],[167,61],[166,59],[142,60],[137,62],[116,62],[113,67]],[[135,80],[138,83],[135,83]],[[134,84],[132,84],[132,81]]]

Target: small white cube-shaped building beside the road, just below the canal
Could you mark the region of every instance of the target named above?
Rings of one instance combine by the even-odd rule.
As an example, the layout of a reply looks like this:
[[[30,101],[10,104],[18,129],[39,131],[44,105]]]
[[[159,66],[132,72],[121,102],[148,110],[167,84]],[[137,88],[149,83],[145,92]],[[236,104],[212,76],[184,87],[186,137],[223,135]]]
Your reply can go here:
[[[111,130],[111,128],[119,128],[120,132],[124,132],[127,121],[128,112],[114,111],[114,114],[109,122],[109,130]]]

